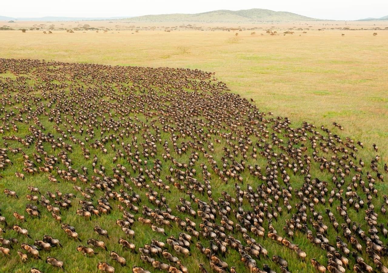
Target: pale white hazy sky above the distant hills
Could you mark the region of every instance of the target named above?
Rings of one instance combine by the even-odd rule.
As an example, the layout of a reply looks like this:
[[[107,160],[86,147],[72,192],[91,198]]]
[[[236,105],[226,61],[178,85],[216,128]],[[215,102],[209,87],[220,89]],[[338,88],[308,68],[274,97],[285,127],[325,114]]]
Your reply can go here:
[[[388,0],[2,0],[0,16],[115,17],[270,9],[319,19],[357,20],[388,15]]]

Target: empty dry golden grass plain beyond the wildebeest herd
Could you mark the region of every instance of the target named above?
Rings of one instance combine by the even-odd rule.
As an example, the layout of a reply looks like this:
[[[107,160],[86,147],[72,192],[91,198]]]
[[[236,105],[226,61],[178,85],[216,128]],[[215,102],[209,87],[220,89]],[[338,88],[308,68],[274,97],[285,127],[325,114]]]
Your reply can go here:
[[[350,27],[363,26],[371,23]],[[388,31],[310,30],[283,36],[288,26],[276,28],[279,36],[264,30],[238,36],[232,31],[1,31],[0,51],[5,58],[214,71],[232,92],[253,98],[263,111],[319,126],[336,121],[346,135],[378,144],[387,161]]]

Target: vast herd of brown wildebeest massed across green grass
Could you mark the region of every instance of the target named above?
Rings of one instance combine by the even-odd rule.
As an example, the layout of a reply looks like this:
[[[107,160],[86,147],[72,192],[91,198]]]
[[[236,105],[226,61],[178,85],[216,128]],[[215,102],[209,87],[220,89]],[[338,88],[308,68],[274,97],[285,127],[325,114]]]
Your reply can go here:
[[[378,146],[228,91],[200,70],[0,59],[1,266],[388,272]]]

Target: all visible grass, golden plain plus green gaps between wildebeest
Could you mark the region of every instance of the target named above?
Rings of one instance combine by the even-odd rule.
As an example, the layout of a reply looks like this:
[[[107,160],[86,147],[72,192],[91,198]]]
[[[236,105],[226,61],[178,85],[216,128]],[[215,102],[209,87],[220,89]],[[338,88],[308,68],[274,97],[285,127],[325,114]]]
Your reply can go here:
[[[281,26],[278,27],[281,28]],[[123,31],[107,35],[100,31],[100,33],[88,32],[83,35],[76,32],[74,35],[72,34],[73,36],[69,36],[70,34],[64,31],[54,31],[53,35],[43,35],[38,31],[29,31],[24,34],[20,31],[3,31],[4,41],[0,44],[0,50],[3,52],[3,57],[9,58],[53,59],[76,63],[103,63],[125,66],[187,67],[215,71],[215,77],[227,83],[231,92],[238,93],[247,99],[253,98],[259,110],[272,111],[275,117],[277,115],[289,117],[294,128],[299,127],[302,121],[308,121],[314,123],[317,128],[320,125],[325,125],[325,127],[332,130],[333,134],[340,134],[343,141],[345,136],[350,136],[354,140],[361,140],[364,142],[365,148],[359,149],[358,154],[364,159],[367,166],[376,155],[372,151],[372,143],[378,144],[382,161],[388,161],[388,150],[385,145],[388,137],[386,133],[388,132],[388,123],[386,123],[388,118],[388,108],[386,106],[388,85],[385,80],[388,77],[385,70],[388,61],[385,47],[388,35],[386,33],[379,32],[378,37],[373,39],[367,31],[352,31],[343,38],[338,37],[339,34],[336,31],[308,31],[308,34],[306,36],[302,35],[302,37],[296,35],[286,37],[259,36],[259,33],[252,37],[249,34],[250,32],[246,31],[239,32],[238,37],[234,36],[234,32],[215,33],[210,31],[173,31],[171,33],[148,31],[136,33],[136,35],[130,33],[131,31]],[[155,43],[156,39],[158,40],[157,43]],[[301,46],[302,43],[303,46]],[[357,64],[357,67],[354,64]],[[17,78],[9,71],[0,74],[0,77],[3,77],[0,81],[3,81],[6,77],[10,77],[12,80]],[[37,83],[33,80],[28,81],[28,85]],[[88,83],[80,82],[80,84],[88,86]],[[36,94],[36,96],[40,95]],[[14,106],[21,107],[21,104]],[[6,109],[13,109],[14,106],[6,106]],[[35,106],[32,108],[35,109]],[[55,137],[59,137],[59,134],[52,130],[53,124],[47,121],[47,117],[42,117],[40,120],[47,130],[52,131]],[[345,129],[340,131],[334,128],[331,125],[333,121],[340,123]],[[65,129],[61,124],[59,126]],[[27,124],[18,123],[18,127],[18,135],[24,137],[29,134]],[[11,132],[6,134],[10,135],[14,132],[11,129]],[[96,130],[97,134],[99,134],[99,130]],[[80,137],[76,133],[74,135]],[[162,134],[162,136],[162,139],[170,137],[169,134]],[[139,136],[138,138],[140,139]],[[127,141],[130,140],[126,139]],[[12,142],[10,144],[11,141],[8,142],[12,147],[21,147],[19,143]],[[70,143],[69,141],[65,142]],[[223,141],[220,146],[226,146],[226,143]],[[50,150],[48,146],[45,146],[46,149]],[[95,153],[99,156],[99,162],[106,165],[107,170],[110,172],[111,167],[114,165],[107,158],[113,157],[114,152],[110,146],[107,149],[108,155],[106,156],[99,150],[90,149],[90,151],[92,154]],[[159,150],[161,150],[161,146],[158,144]],[[28,154],[31,156],[33,151],[34,148],[30,148]],[[279,150],[276,151],[280,152]],[[57,154],[58,151],[52,153]],[[221,156],[223,156],[223,152],[218,149],[215,155],[217,162]],[[91,161],[85,162],[79,150],[74,151],[71,158],[75,163],[75,167],[79,168],[80,165],[87,165],[89,171],[91,170]],[[17,191],[20,197],[20,200],[13,200],[0,195],[2,215],[10,223],[15,222],[12,211],[24,212],[24,205],[27,202],[25,195],[28,193],[27,186],[29,184],[38,186],[42,193],[48,190],[54,191],[56,188],[64,193],[73,192],[71,183],[61,181],[57,185],[52,185],[44,174],[27,176],[26,181],[19,181],[14,177],[14,172],[21,170],[23,159],[20,154],[10,155],[10,159],[14,165],[7,166],[2,172],[4,179],[0,180],[2,188],[12,188]],[[180,162],[187,162],[188,156],[183,155],[179,160]],[[118,160],[118,162],[128,165],[125,160]],[[266,162],[264,160],[259,162],[263,169]],[[247,160],[247,164],[252,165],[255,163],[251,159]],[[381,166],[379,165],[379,169],[381,169]],[[63,165],[61,167],[64,168]],[[315,169],[317,167],[319,165],[314,166]],[[196,169],[197,173],[200,174],[201,169],[198,166],[196,166]],[[110,175],[112,175],[111,172]],[[163,170],[161,177],[165,175],[166,172]],[[315,176],[331,181],[331,176],[326,173],[312,171],[312,177]],[[252,185],[260,183],[260,181],[248,177],[247,183],[249,182]],[[291,176],[291,181],[293,188],[299,187],[303,183],[303,179],[299,176]],[[221,190],[234,193],[233,183],[224,185],[220,181],[212,181],[212,188],[215,199],[220,197]],[[379,204],[382,202],[381,196],[387,193],[387,188],[384,183],[376,184],[376,188],[379,190],[379,198],[373,200],[376,211],[379,212]],[[174,207],[178,203],[177,198],[184,196],[184,194],[177,192],[175,189],[171,190],[173,192],[171,194],[166,193],[166,197],[171,204],[170,207]],[[139,193],[144,201],[144,190],[140,190]],[[360,196],[365,200],[365,195],[360,194]],[[87,238],[99,237],[93,232],[92,227],[100,224],[102,227],[109,228],[108,231],[112,239],[105,240],[109,250],[117,250],[120,255],[127,259],[130,266],[136,263],[152,271],[151,266],[139,262],[139,256],[122,252],[120,247],[117,247],[116,241],[121,236],[120,228],[114,223],[115,219],[121,218],[121,214],[117,210],[113,210],[109,216],[93,219],[92,223],[89,223],[75,215],[76,207],[79,207],[79,200],[80,194],[73,200],[73,208],[62,215],[62,221],[67,221],[75,226],[84,243]],[[116,206],[118,202],[113,201],[112,203]],[[152,207],[146,200],[144,203]],[[244,200],[244,209],[248,208],[249,205]],[[316,210],[324,211],[324,206],[317,206]],[[342,221],[334,206],[332,210],[337,221]],[[348,210],[352,220],[363,223],[363,229],[367,231],[368,227],[363,220],[363,212],[356,214],[351,209]],[[184,216],[184,214],[178,213],[177,215]],[[275,228],[281,234],[283,234],[284,219],[288,217],[283,214],[278,222],[274,222]],[[232,219],[235,220],[234,217]],[[326,215],[324,215],[324,219],[326,222],[328,221]],[[124,268],[111,261],[107,253],[99,249],[97,251],[99,254],[96,257],[90,259],[82,257],[75,250],[79,243],[69,240],[47,211],[42,209],[41,221],[29,217],[27,220],[28,222],[22,224],[22,226],[26,225],[33,238],[41,238],[44,234],[50,233],[53,237],[61,240],[65,246],[64,249],[54,248],[50,253],[42,252],[41,255],[43,258],[49,255],[63,257],[67,271],[93,272],[96,270],[98,261],[107,261],[116,268],[117,272],[125,271]],[[199,223],[198,219],[195,221],[197,224]],[[379,222],[385,223],[385,221],[385,217],[379,216]],[[264,222],[263,226],[267,227],[267,221]],[[163,235],[159,236],[151,233],[150,229],[147,230],[139,223],[134,224],[133,230],[135,230],[137,236],[135,239],[137,247],[149,243],[150,234],[155,238],[166,238]],[[171,230],[168,228],[166,230],[168,234],[177,235],[180,232],[176,226]],[[328,238],[332,243],[335,242],[335,236],[335,231],[331,228]],[[17,237],[20,241],[24,240],[13,231],[7,231],[3,237]],[[237,236],[237,238],[242,240],[241,236]],[[104,240],[103,238],[99,239]],[[385,244],[387,243],[385,238],[381,238],[381,240]],[[32,240],[27,241],[32,243]],[[293,251],[270,242],[268,238],[265,240],[258,239],[258,242],[270,252],[270,255],[278,254],[287,259],[291,272],[314,272],[309,263],[304,264],[298,261]],[[316,257],[322,264],[326,263],[326,253],[308,242],[305,235],[296,232],[295,242],[307,252],[308,258]],[[204,245],[206,244],[204,243]],[[364,244],[363,247],[365,249]],[[182,263],[189,267],[190,272],[197,272],[198,264],[204,263],[211,272],[206,258],[196,249],[193,251],[193,257],[196,259],[193,259],[193,257],[182,258]],[[0,271],[27,272],[32,266],[36,266],[44,272],[57,272],[57,270],[45,264],[44,261],[29,260],[23,264],[19,261],[16,250],[12,250],[11,253],[11,258],[0,257]],[[174,254],[173,250],[171,250],[171,253]],[[372,264],[372,261],[366,257],[365,253],[363,257],[367,263]],[[237,272],[246,271],[246,268],[239,262],[239,254],[235,250],[228,252],[225,261],[229,265],[237,264]],[[385,258],[384,262],[386,264]],[[275,271],[279,269],[272,261],[267,259],[258,261],[260,267],[263,263],[269,264]]]

